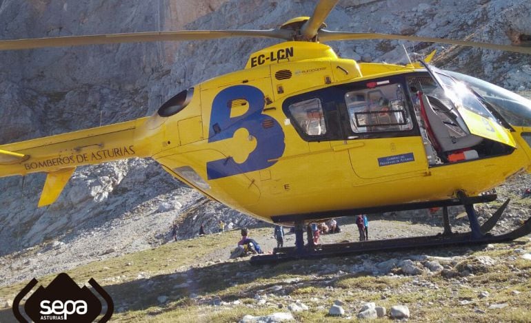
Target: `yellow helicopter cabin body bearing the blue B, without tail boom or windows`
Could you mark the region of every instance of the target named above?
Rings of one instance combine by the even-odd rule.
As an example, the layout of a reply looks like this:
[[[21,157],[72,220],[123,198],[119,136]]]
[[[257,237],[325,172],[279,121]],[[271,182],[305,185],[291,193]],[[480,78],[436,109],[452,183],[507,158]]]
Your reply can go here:
[[[406,87],[405,76],[417,67],[358,64],[317,43],[273,46],[251,55],[247,67],[195,86],[188,106],[159,121],[165,135],[151,156],[210,198],[263,220],[450,198],[457,191],[477,195],[530,164],[520,140],[516,149],[484,158],[430,165],[411,106],[410,128],[359,136],[341,130],[349,127],[346,93],[368,83]],[[408,91],[403,95],[411,105]],[[305,133],[290,113],[289,106],[311,100],[321,101],[323,136]]]

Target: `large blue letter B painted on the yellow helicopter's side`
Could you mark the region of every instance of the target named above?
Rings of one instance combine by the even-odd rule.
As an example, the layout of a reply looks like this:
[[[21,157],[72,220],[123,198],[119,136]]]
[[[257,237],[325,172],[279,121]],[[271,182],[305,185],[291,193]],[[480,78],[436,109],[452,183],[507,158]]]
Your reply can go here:
[[[241,116],[230,118],[231,103],[237,99],[246,100],[249,109]],[[274,118],[261,113],[263,107],[263,93],[250,85],[228,87],[214,98],[208,142],[230,139],[234,132],[244,128],[257,140],[257,147],[241,164],[236,163],[230,156],[208,162],[206,169],[209,180],[265,169],[276,163],[268,160],[282,156],[285,148],[284,132]],[[267,121],[268,127],[263,126],[263,121]]]

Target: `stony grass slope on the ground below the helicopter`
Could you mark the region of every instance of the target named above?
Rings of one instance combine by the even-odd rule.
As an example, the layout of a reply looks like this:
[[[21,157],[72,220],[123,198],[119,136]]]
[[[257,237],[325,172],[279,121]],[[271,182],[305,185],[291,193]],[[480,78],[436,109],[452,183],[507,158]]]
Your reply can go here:
[[[254,236],[270,236],[270,228],[257,229]],[[161,247],[132,253],[119,258],[93,262],[68,274],[76,282],[94,278],[114,300],[114,321],[140,322],[237,322],[246,314],[266,315],[288,311],[294,300],[310,306],[310,311],[294,313],[301,322],[334,322],[327,315],[334,300],[343,300],[348,315],[355,317],[363,302],[376,302],[388,311],[395,304],[409,306],[414,322],[492,322],[527,321],[531,317],[531,261],[518,258],[514,248],[531,250],[529,238],[513,244],[496,244],[494,249],[468,248],[419,251],[429,256],[465,256],[459,264],[472,264],[473,256],[490,256],[497,264],[483,272],[463,278],[442,275],[374,277],[370,273],[350,274],[348,269],[364,260],[385,261],[410,253],[378,253],[372,256],[330,258],[319,261],[286,262],[277,266],[251,267],[246,260],[237,262],[205,262],[210,253],[234,245],[238,231],[209,235],[194,240],[165,244]],[[228,255],[227,255],[228,256]],[[512,268],[511,268],[512,267]],[[342,270],[344,275],[337,275]],[[47,286],[55,277],[38,278]],[[422,282],[415,282],[418,278]],[[296,281],[296,282],[294,282]],[[186,283],[188,282],[188,283]],[[185,284],[179,286],[179,284]],[[437,285],[435,289],[432,284]],[[26,283],[24,283],[26,284]],[[0,298],[13,299],[24,284],[0,288]],[[268,288],[280,285],[280,292]],[[479,298],[481,291],[490,293]],[[517,294],[513,291],[520,291]],[[254,295],[268,295],[268,303],[257,304]],[[168,297],[166,304],[157,298]],[[194,298],[194,296],[196,296]],[[289,295],[292,300],[286,297]],[[385,295],[385,299],[382,299]],[[216,300],[241,304],[209,305]],[[463,300],[469,304],[461,304]],[[488,309],[490,304],[508,303],[504,309]],[[279,309],[279,304],[283,309]],[[319,307],[322,306],[322,307]],[[481,309],[486,313],[477,313]],[[388,320],[388,319],[380,319]],[[0,311],[0,322],[14,322],[11,309]]]

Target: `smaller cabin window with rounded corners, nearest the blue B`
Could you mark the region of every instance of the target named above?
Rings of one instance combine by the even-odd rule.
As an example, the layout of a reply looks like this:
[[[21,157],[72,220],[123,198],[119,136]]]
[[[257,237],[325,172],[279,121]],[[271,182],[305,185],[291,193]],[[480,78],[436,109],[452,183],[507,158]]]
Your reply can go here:
[[[299,128],[308,136],[317,137],[326,134],[323,107],[319,98],[293,103],[288,109]]]

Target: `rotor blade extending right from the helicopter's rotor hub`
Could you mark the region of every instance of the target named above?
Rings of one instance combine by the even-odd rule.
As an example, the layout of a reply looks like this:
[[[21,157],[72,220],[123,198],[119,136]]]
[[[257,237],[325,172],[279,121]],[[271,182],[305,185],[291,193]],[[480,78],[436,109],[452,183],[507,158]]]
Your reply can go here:
[[[478,43],[475,41],[459,41],[457,39],[443,39],[434,37],[417,37],[405,36],[399,34],[379,34],[379,33],[361,33],[361,32],[332,32],[330,30],[319,31],[319,41],[348,41],[348,40],[365,40],[365,39],[397,39],[404,41],[425,41],[428,43],[445,43],[450,45],[461,45],[479,48],[488,48],[490,50],[505,50],[508,52],[517,52],[531,54],[530,47],[521,47],[514,45],[497,45],[492,43]]]

